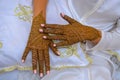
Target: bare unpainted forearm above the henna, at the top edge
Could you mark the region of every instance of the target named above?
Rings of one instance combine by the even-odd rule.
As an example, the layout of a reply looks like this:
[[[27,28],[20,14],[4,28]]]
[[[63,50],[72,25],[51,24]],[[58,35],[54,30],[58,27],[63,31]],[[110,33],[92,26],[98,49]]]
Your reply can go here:
[[[46,6],[48,0],[33,0],[33,18],[42,12],[43,17],[46,17]]]

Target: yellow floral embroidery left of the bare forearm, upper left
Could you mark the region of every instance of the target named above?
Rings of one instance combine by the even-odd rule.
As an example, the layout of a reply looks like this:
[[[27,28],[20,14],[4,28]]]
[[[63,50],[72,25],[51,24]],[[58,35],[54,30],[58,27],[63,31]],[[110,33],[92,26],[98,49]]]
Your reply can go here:
[[[29,6],[19,4],[18,7],[15,8],[15,16],[23,21],[31,22],[32,9]]]

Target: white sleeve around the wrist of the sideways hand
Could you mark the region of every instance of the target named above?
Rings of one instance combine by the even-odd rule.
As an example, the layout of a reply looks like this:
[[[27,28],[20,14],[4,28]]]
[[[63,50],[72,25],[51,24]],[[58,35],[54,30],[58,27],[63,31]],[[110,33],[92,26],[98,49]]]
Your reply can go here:
[[[114,31],[102,31],[102,38],[96,45],[86,42],[86,50],[117,50],[120,49],[120,19],[117,21]]]

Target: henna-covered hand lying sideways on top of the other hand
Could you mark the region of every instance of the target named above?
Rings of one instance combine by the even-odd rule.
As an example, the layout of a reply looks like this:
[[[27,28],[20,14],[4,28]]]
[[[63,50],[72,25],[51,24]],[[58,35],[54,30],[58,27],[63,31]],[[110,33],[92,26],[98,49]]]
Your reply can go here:
[[[43,33],[53,34],[52,36],[44,36],[44,39],[61,40],[54,46],[67,46],[85,40],[95,41],[101,38],[99,30],[82,25],[67,15],[61,14],[61,17],[68,21],[68,25],[46,24]]]

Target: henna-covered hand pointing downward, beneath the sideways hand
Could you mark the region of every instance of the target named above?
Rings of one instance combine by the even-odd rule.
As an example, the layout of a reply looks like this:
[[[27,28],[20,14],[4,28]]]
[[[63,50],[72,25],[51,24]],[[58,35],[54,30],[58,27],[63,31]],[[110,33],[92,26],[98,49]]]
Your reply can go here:
[[[44,40],[42,38],[43,35],[39,32],[40,24],[45,23],[44,18],[42,17],[42,13],[36,16],[32,22],[32,28],[30,32],[30,36],[28,39],[27,46],[25,48],[24,54],[22,56],[22,62],[25,61],[29,51],[32,52],[32,66],[34,73],[37,73],[37,63],[39,64],[39,73],[40,76],[43,76],[43,69],[45,66],[47,74],[50,71],[50,60],[49,60],[49,46],[53,50],[53,52],[58,55],[58,51],[56,48],[52,46],[51,40]],[[42,28],[41,28],[42,29]]]

